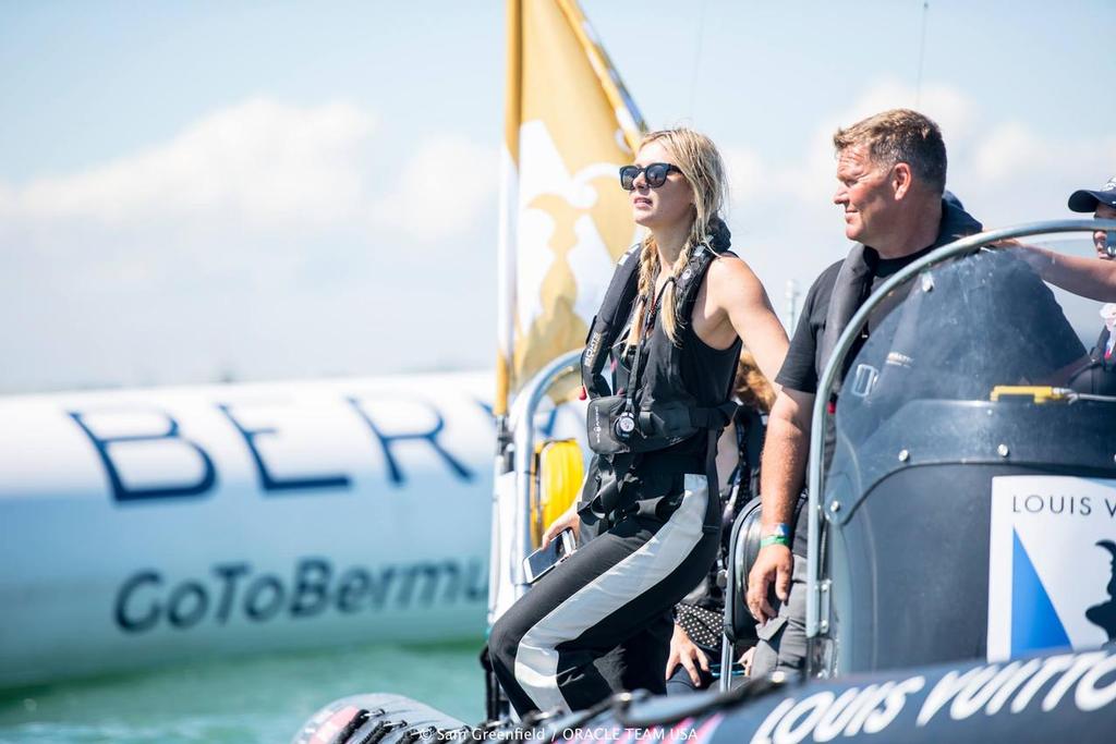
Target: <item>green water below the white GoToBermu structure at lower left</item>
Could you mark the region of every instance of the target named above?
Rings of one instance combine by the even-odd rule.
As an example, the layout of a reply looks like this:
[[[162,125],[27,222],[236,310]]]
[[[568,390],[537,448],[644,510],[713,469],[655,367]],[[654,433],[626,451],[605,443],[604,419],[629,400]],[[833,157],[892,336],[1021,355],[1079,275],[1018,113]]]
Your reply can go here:
[[[286,744],[326,703],[357,693],[483,717],[481,641],[369,646],[198,663],[0,697],[0,744]]]

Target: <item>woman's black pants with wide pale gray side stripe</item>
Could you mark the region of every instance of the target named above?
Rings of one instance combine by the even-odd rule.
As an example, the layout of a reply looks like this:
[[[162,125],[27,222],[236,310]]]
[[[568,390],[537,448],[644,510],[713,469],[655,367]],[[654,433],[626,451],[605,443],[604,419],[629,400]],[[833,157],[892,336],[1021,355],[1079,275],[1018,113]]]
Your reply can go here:
[[[677,503],[668,516],[639,510],[622,518],[540,579],[493,626],[492,667],[520,716],[584,709],[617,692],[596,663],[646,637],[708,573],[720,540],[720,503],[703,474],[663,475],[665,482],[650,481],[682,493],[681,500],[660,500]],[[670,636],[658,642],[662,653],[645,658],[661,664],[629,660],[631,688],[663,692]],[[633,678],[638,676],[644,678]]]

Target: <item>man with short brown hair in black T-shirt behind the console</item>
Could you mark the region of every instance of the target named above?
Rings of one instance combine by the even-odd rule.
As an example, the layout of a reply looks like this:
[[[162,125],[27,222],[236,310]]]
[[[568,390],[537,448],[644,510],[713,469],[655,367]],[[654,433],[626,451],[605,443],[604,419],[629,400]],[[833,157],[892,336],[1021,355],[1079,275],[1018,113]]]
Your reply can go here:
[[[782,390],[771,410],[763,450],[762,540],[747,598],[762,624],[752,661],[757,676],[801,670],[806,655],[807,519],[800,494],[818,379],[838,337],[873,289],[931,250],[981,230],[960,202],[943,200],[945,143],[937,125],[922,114],[908,109],[876,114],[838,129],[834,148],[838,181],[834,203],[843,207],[845,235],[856,245],[810,287],[776,378]],[[876,315],[882,319],[886,312]],[[859,346],[877,322],[869,319]],[[831,450],[827,446],[827,452]],[[772,582],[778,608],[768,599]]]

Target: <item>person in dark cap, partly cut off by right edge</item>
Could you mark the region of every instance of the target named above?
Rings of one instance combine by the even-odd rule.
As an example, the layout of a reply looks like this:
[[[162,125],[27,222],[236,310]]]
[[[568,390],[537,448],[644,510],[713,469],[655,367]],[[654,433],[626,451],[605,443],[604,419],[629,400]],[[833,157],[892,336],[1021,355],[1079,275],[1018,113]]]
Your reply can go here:
[[[1093,212],[1097,220],[1116,220],[1116,176],[1108,180],[1097,191],[1079,189],[1069,195],[1069,209],[1074,212]],[[1116,268],[1116,243],[1108,233],[1097,230],[1093,233],[1093,245],[1097,258]],[[1100,308],[1104,327],[1096,346],[1089,351],[1089,366],[1078,373],[1071,384],[1078,393],[1116,395],[1116,302],[1106,302]]]

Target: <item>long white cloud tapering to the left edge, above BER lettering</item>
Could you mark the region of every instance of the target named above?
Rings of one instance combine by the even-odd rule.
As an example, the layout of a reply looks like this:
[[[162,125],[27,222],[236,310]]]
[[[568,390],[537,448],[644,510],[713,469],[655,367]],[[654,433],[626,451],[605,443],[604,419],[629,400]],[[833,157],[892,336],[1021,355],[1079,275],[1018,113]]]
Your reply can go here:
[[[9,187],[8,212],[109,226],[199,218],[321,224],[358,209],[364,174],[355,155],[373,129],[374,117],[348,104],[249,100],[144,152]]]

